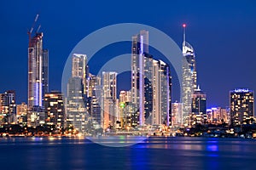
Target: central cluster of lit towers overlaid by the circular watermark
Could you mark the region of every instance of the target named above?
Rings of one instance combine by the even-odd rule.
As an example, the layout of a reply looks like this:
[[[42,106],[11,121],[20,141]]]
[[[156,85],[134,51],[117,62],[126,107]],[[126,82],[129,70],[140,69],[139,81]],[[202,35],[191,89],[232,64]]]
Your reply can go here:
[[[86,54],[73,54],[67,84],[67,124],[82,133],[171,125],[170,66],[148,53],[148,31],[132,37],[131,90],[117,92],[115,71],[90,74]]]

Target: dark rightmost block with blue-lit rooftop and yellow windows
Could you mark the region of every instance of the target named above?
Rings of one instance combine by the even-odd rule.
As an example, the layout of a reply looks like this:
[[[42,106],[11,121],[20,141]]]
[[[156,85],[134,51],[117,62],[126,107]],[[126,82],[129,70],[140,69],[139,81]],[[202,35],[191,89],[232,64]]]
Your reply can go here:
[[[254,93],[252,90],[237,88],[230,91],[230,117],[230,123],[233,126],[253,122]]]

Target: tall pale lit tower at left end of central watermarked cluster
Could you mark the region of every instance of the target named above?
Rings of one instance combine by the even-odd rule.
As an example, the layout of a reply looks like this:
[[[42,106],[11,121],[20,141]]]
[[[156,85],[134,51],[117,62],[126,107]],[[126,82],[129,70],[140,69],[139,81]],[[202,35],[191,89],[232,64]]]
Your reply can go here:
[[[71,123],[80,133],[85,132],[86,110],[86,69],[87,58],[85,54],[73,54],[72,77],[67,83],[67,125]]]

